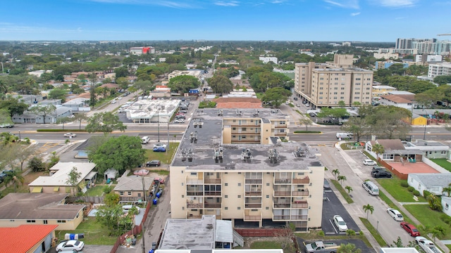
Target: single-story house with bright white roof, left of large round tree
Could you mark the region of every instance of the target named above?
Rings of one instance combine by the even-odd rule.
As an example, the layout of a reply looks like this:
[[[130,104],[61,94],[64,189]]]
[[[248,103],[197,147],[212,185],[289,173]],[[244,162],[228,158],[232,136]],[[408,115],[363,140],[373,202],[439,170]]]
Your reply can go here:
[[[50,168],[50,176],[39,176],[28,184],[30,193],[70,193],[72,187],[68,183],[68,174],[73,167],[81,173],[77,185],[85,192],[97,179],[96,164],[92,162],[58,162]],[[73,190],[78,192],[77,187]]]

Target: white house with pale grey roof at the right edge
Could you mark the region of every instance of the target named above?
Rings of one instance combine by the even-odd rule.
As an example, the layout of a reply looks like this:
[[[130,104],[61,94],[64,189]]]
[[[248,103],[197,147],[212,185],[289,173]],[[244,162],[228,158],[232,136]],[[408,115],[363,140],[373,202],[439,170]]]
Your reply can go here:
[[[442,195],[443,188],[448,187],[451,183],[451,174],[442,173],[410,173],[407,177],[409,186],[418,190],[421,195],[427,190],[435,195]]]

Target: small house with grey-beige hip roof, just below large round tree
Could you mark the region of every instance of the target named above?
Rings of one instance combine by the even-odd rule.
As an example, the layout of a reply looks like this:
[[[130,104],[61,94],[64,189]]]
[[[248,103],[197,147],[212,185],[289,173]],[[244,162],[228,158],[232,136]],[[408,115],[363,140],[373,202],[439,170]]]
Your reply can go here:
[[[144,184],[144,186],[143,186]],[[143,190],[146,197],[153,194],[154,177],[152,176],[126,176],[118,178],[118,184],[114,188],[114,193],[121,197],[121,201],[144,200]]]

